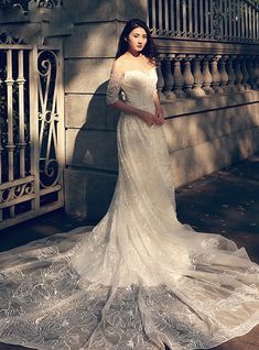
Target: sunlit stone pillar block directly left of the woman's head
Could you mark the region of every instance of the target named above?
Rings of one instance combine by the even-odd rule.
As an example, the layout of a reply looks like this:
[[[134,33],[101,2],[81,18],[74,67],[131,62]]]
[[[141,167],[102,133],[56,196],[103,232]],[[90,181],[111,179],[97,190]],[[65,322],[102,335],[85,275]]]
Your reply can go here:
[[[69,57],[115,57],[117,51],[117,22],[76,25],[74,34],[64,45]]]

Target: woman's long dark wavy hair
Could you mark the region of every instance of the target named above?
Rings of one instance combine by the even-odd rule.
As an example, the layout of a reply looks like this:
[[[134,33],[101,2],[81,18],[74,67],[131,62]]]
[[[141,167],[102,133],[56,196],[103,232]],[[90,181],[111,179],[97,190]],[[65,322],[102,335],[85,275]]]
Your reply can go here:
[[[144,45],[143,50],[141,51],[141,54],[143,54],[150,61],[155,59],[158,53],[157,53],[157,48],[155,48],[155,44],[153,42],[153,39],[150,34],[150,30],[143,21],[138,20],[138,19],[130,20],[126,23],[125,29],[123,29],[122,33],[120,34],[116,58],[123,55],[128,51],[128,47],[129,47],[129,44],[127,42],[128,36],[129,36],[130,32],[132,32],[132,30],[134,30],[136,28],[139,28],[139,26],[141,26],[147,33],[147,44]]]

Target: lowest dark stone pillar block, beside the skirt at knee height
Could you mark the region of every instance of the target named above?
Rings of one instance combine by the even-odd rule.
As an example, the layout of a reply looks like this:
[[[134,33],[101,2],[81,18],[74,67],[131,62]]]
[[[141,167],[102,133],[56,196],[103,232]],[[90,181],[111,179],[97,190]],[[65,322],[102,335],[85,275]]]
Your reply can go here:
[[[94,223],[105,216],[117,182],[116,174],[85,169],[65,169],[65,209]]]

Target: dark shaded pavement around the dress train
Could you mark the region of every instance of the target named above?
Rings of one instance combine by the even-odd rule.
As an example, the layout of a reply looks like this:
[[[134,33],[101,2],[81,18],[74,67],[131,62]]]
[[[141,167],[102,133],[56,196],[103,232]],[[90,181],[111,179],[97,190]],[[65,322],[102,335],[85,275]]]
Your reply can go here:
[[[259,155],[177,188],[176,203],[181,222],[235,240],[259,263]],[[0,251],[86,223],[93,222],[78,222],[56,210],[0,231]],[[22,349],[26,348],[0,343],[0,350]],[[214,349],[258,350],[259,326]]]

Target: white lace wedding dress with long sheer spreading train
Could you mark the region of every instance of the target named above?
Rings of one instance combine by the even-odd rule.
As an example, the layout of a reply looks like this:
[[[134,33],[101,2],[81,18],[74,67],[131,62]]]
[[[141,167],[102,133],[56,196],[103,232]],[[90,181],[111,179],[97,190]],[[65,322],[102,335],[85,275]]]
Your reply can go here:
[[[157,79],[154,68],[112,74],[107,100],[121,88],[154,112]],[[163,128],[122,113],[118,152],[114,198],[94,229],[0,254],[1,342],[208,349],[259,322],[259,266],[233,241],[177,221]]]

